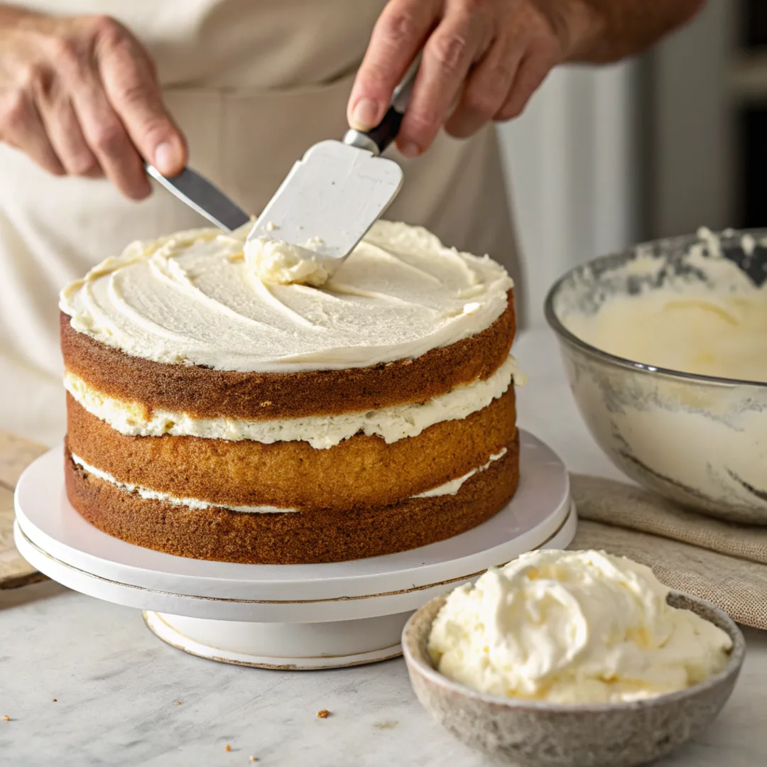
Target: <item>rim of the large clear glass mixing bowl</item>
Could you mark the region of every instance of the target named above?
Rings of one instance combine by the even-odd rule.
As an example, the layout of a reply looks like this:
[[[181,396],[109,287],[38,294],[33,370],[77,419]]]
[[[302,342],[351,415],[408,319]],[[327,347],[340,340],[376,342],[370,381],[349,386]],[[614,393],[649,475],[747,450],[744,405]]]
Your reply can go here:
[[[746,235],[755,234],[757,232],[759,232],[761,235],[767,235],[767,229],[723,229],[720,232],[713,232],[713,234]],[[561,321],[555,311],[554,302],[559,291],[561,291],[561,289],[564,287],[565,282],[568,281],[568,279],[570,279],[576,272],[579,272],[582,269],[593,265],[601,264],[611,258],[615,258],[616,256],[627,256],[635,252],[637,249],[650,248],[653,245],[660,245],[663,242],[686,242],[688,240],[690,242],[695,242],[693,239],[694,237],[695,235],[680,235],[678,237],[664,237],[660,239],[648,240],[647,242],[642,242],[639,245],[634,245],[633,248],[616,253],[600,255],[597,256],[597,258],[592,258],[591,261],[584,262],[578,266],[574,266],[573,268],[568,269],[565,274],[561,275],[561,277],[555,281],[554,285],[551,285],[551,288],[548,289],[548,293],[546,294],[546,298],[544,300],[543,312],[549,327],[561,338],[562,341],[566,341],[568,344],[578,348],[580,351],[583,351],[586,354],[590,354],[591,357],[597,357],[597,359],[601,359],[604,362],[608,362],[619,367],[626,367],[630,370],[635,370],[637,373],[656,376],[661,375],[698,384],[709,384],[725,387],[749,386],[767,389],[767,381],[752,381],[740,378],[726,378],[720,376],[708,376],[698,373],[686,373],[683,370],[673,370],[670,367],[658,367],[657,365],[650,365],[644,362],[638,362],[637,360],[631,360],[628,357],[621,357],[619,354],[611,354],[608,351],[604,351],[599,347],[595,347],[592,344],[589,344],[587,341],[584,341],[582,338],[579,338],[577,335],[568,330],[568,328],[565,326],[565,323]]]

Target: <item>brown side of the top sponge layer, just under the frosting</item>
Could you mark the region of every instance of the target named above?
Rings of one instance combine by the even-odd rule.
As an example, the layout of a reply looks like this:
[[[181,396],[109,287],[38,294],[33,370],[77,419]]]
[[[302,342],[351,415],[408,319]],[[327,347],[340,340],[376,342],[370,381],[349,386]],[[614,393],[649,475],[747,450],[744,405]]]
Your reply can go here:
[[[345,370],[239,373],[131,357],[75,331],[61,314],[61,350],[71,373],[100,393],[195,418],[270,420],[337,415],[425,402],[491,376],[515,334],[513,291],[484,331],[413,360]]]

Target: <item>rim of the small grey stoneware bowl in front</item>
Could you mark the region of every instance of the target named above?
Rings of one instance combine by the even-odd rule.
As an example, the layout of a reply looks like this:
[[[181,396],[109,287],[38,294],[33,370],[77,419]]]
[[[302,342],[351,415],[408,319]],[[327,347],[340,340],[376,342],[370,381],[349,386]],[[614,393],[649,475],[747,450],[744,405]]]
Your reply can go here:
[[[512,710],[526,710],[526,711],[540,711],[545,713],[558,713],[558,714],[575,714],[575,713],[607,713],[607,712],[625,712],[629,713],[636,711],[637,709],[647,709],[657,706],[667,706],[681,700],[686,700],[690,696],[695,696],[703,692],[703,690],[709,690],[713,687],[719,686],[725,683],[732,676],[737,676],[742,667],[743,660],[746,657],[746,638],[743,637],[742,631],[739,629],[735,621],[726,614],[725,611],[716,607],[715,604],[707,601],[706,599],[700,599],[700,597],[693,597],[692,594],[687,594],[684,591],[676,591],[676,589],[670,589],[669,596],[680,596],[685,599],[696,602],[702,607],[706,607],[708,611],[713,612],[724,624],[723,630],[732,639],[732,650],[729,652],[727,663],[722,670],[712,674],[702,682],[697,682],[689,687],[685,687],[683,690],[676,690],[673,693],[661,693],[660,695],[652,696],[650,698],[641,698],[640,700],[624,700],[617,701],[616,703],[551,703],[545,700],[528,700],[527,698],[514,698],[505,697],[500,695],[493,695],[492,693],[481,693],[478,690],[473,690],[471,687],[467,687],[459,682],[454,682],[447,676],[439,673],[430,663],[424,663],[418,657],[415,657],[410,650],[407,636],[412,630],[413,623],[416,621],[416,617],[423,614],[427,608],[433,607],[436,602],[444,601],[448,597],[448,594],[440,594],[438,597],[434,597],[430,601],[426,602],[422,607],[419,607],[410,618],[408,618],[407,624],[402,631],[402,653],[405,658],[405,663],[410,669],[416,670],[422,676],[425,676],[428,680],[436,683],[439,686],[445,687],[454,693],[459,695],[470,697],[475,700],[479,700],[482,703],[488,703],[495,706],[505,706]],[[442,605],[440,604],[440,607]],[[436,617],[436,614],[435,614]],[[701,616],[703,617],[703,616]],[[433,620],[427,624],[428,629],[431,629]],[[704,620],[707,620],[704,618]],[[710,622],[710,621],[709,621]],[[419,641],[421,637],[419,636]]]

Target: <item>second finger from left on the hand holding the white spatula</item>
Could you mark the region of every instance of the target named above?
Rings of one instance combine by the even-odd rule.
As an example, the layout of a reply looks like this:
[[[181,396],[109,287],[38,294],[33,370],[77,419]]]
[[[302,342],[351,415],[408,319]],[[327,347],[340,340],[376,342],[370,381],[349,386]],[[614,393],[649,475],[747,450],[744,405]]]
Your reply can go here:
[[[426,41],[403,117],[397,146],[408,157],[426,150],[455,103],[472,62],[484,52],[490,31],[486,18],[463,8],[447,15]]]

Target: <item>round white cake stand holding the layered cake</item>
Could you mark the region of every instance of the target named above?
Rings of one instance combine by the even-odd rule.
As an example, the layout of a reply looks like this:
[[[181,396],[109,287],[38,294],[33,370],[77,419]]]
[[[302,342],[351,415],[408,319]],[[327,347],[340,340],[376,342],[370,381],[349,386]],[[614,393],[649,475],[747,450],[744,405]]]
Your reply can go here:
[[[19,479],[15,542],[54,581],[140,608],[160,639],[188,653],[280,669],[370,663],[400,654],[407,617],[432,597],[524,551],[571,542],[565,466],[528,433],[521,446],[519,489],[484,524],[413,551],[324,565],[202,561],[112,538],[67,502],[54,449]]]

